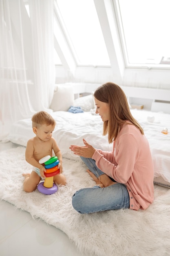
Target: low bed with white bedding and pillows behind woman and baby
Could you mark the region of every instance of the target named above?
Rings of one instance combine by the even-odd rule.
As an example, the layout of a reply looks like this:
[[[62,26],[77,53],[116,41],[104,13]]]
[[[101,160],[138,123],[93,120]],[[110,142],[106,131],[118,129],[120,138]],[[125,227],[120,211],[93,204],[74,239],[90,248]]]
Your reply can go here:
[[[103,123],[100,117],[95,114],[93,89],[95,90],[98,86],[98,84],[78,85],[68,83],[56,85],[55,87],[50,112],[57,123],[53,137],[56,139],[62,155],[66,159],[76,159],[81,162],[81,159],[69,150],[69,146],[71,144],[83,145],[83,138],[95,148],[101,148],[102,150],[112,150],[113,148],[112,144],[108,144],[107,136],[102,136]],[[132,91],[128,91],[127,88],[123,88],[123,90],[128,99],[129,96],[136,97],[140,95],[138,97],[141,97],[141,94],[146,94],[146,98],[150,97],[141,88],[139,88],[138,94],[137,88]],[[79,97],[80,92],[86,92],[88,95],[84,94],[84,97]],[[162,90],[158,91],[159,97],[155,96],[155,90],[150,91],[149,89],[149,92],[152,97],[157,97],[157,99],[162,99],[163,97],[168,99],[170,95],[170,91],[166,90],[163,91],[164,95]],[[159,101],[157,102],[159,103]],[[167,101],[165,104],[168,104]],[[70,106],[79,107],[83,112],[68,112]],[[144,128],[145,135],[148,138],[154,162],[154,182],[170,187],[170,132],[168,134],[161,132],[164,128],[170,131],[170,114],[163,111],[154,112],[132,108],[130,111]],[[30,118],[14,123],[8,139],[15,144],[26,146],[28,139],[33,136]]]

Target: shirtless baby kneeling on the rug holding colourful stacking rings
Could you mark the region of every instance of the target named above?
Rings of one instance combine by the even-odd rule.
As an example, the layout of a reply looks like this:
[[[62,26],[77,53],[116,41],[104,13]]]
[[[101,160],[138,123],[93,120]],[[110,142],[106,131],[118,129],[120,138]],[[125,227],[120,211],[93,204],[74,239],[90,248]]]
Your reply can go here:
[[[51,157],[54,154],[60,161],[58,168],[60,173],[53,177],[55,184],[66,185],[66,177],[62,174],[62,153],[55,139],[52,137],[55,129],[55,120],[45,111],[40,111],[32,117],[32,128],[35,137],[29,139],[26,145],[25,159],[33,166],[33,171],[23,174],[25,177],[23,187],[26,192],[33,192],[40,180],[45,179],[44,164],[39,164],[39,160],[46,155]]]

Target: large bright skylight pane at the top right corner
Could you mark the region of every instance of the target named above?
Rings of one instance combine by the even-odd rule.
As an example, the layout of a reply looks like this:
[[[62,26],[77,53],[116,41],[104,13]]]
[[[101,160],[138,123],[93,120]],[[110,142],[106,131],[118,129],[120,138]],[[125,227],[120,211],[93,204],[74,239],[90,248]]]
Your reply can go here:
[[[113,3],[127,66],[170,67],[170,0]]]

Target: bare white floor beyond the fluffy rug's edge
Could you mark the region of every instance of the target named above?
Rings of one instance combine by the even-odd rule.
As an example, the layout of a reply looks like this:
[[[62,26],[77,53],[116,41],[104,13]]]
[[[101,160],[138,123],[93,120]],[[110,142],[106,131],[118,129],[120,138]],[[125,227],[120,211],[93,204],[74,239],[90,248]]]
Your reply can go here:
[[[0,151],[15,147],[0,143]],[[0,256],[81,256],[65,233],[0,201]]]

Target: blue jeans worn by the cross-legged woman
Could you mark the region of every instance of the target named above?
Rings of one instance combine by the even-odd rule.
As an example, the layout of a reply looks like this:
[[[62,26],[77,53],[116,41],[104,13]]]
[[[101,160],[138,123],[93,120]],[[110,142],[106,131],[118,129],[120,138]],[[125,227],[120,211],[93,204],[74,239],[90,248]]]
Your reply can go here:
[[[81,159],[97,178],[104,174],[97,168],[94,159],[86,157],[81,157]],[[110,179],[113,180],[111,177]],[[79,213],[93,213],[129,208],[130,198],[126,185],[117,183],[104,188],[94,186],[93,188],[80,189],[73,195],[72,204]]]

